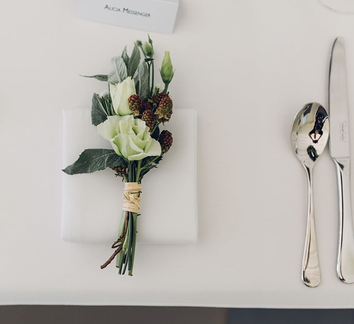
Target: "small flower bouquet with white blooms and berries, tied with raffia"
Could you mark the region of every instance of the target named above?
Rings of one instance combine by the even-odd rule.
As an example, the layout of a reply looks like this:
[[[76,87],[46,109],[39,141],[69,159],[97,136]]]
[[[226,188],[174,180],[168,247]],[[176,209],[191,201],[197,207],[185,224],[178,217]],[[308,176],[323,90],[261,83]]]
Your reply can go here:
[[[143,59],[141,59],[141,54]],[[160,69],[164,89],[154,85],[154,50],[152,39],[135,42],[129,57],[126,47],[112,58],[108,75],[85,76],[108,83],[109,91],[94,93],[91,120],[98,133],[112,145],[109,149],[86,149],[77,161],[63,171],[67,174],[91,173],[111,168],[124,184],[123,211],[114,253],[101,269],[116,257],[119,274],[133,275],[136,225],[140,209],[142,185],[146,173],[156,168],[172,145],[169,131],[160,132],[172,115],[168,87],[173,78],[169,51]]]

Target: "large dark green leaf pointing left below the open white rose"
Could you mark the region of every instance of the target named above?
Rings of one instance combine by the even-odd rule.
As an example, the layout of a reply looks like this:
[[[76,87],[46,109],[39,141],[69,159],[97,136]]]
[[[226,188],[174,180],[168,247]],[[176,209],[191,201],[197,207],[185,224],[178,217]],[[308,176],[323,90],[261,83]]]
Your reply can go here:
[[[125,167],[126,163],[113,150],[86,149],[80,154],[77,161],[63,169],[63,171],[67,174],[92,173],[118,166]]]

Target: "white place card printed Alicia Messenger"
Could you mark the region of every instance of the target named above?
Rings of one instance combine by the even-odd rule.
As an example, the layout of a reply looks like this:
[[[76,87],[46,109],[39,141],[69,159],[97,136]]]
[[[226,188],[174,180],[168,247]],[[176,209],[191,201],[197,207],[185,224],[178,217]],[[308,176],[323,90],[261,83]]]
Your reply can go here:
[[[78,16],[106,24],[171,34],[179,0],[79,0]]]

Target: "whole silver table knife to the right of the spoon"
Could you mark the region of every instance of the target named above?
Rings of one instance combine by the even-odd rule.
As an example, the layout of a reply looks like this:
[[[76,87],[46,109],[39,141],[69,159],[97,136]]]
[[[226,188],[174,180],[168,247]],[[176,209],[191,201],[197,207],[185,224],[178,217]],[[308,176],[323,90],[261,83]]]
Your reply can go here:
[[[339,243],[337,274],[354,283],[354,226],[350,192],[350,145],[348,90],[344,39],[338,37],[332,49],[329,72],[330,153],[337,167],[339,193]]]

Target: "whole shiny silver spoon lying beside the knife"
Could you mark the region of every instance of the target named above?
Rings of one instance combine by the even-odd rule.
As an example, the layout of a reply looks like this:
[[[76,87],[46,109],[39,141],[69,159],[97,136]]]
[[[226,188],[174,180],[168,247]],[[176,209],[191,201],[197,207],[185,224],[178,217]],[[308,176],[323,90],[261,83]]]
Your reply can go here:
[[[308,287],[317,287],[321,282],[315,231],[312,173],[315,162],[327,145],[328,136],[329,120],[326,110],[318,102],[305,104],[293,121],[291,146],[307,174],[308,210],[302,280]]]

